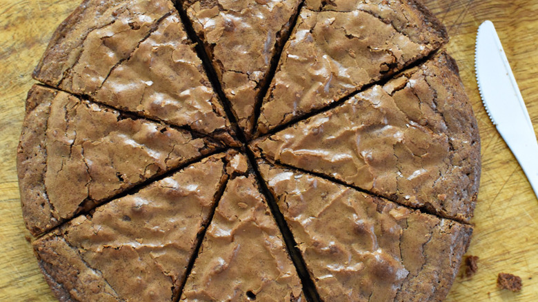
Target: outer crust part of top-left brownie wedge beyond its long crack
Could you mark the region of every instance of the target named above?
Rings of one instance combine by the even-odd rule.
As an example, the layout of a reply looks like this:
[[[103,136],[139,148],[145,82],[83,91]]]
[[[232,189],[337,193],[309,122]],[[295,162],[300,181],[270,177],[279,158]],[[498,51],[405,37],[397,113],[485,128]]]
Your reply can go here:
[[[167,0],[86,0],[54,33],[34,76],[67,90],[93,91],[137,48],[155,21],[172,11]],[[96,53],[106,55],[96,60]]]

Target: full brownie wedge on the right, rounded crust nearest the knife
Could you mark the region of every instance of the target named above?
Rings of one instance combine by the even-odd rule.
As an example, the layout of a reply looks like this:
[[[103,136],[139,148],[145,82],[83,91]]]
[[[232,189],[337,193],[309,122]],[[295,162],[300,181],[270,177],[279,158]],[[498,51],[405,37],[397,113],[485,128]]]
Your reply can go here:
[[[475,208],[477,121],[445,53],[253,145],[268,159],[443,217],[468,221]]]

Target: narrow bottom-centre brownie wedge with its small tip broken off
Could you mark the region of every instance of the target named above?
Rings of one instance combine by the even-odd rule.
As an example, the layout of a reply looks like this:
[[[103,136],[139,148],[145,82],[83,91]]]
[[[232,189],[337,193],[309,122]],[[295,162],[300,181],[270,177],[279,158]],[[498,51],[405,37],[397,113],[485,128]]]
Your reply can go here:
[[[277,223],[246,158],[226,185],[181,301],[306,301]]]

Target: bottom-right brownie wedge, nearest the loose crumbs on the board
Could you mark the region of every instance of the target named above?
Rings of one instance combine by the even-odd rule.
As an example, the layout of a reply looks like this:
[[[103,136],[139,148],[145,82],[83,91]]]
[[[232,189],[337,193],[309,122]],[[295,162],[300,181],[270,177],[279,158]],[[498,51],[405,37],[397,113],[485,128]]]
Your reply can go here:
[[[442,301],[470,225],[260,160],[323,301]]]

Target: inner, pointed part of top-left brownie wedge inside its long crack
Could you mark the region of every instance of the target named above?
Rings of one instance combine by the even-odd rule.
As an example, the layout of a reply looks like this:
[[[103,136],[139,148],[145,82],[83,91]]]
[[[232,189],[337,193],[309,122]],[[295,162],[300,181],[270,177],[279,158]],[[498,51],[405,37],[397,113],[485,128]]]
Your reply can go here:
[[[127,61],[110,72],[94,98],[208,134],[227,123],[177,14],[158,23]]]

